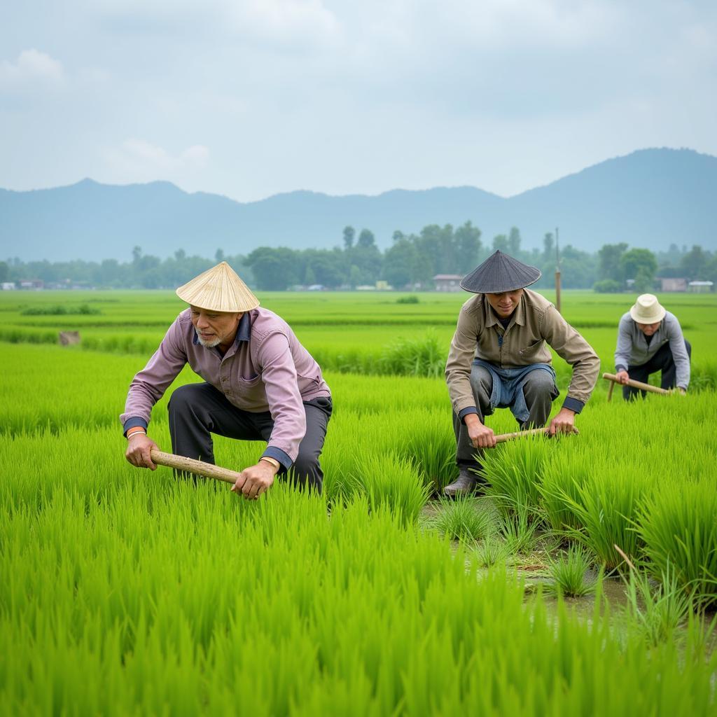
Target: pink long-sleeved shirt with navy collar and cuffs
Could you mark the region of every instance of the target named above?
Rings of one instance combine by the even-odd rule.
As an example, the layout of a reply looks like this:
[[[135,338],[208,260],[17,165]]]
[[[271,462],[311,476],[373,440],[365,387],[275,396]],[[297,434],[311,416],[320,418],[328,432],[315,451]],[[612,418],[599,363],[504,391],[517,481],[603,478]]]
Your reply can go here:
[[[306,431],[303,402],[331,396],[316,361],[288,323],[272,311],[247,311],[239,322],[236,341],[222,356],[217,348],[199,343],[186,309],[168,328],[148,364],[132,379],[125,412],[120,415],[125,432],[133,426],[147,427],[152,407],[184,364],[237,408],[270,411],[274,428],[267,455],[276,456],[271,449],[277,449],[290,462],[296,460]]]

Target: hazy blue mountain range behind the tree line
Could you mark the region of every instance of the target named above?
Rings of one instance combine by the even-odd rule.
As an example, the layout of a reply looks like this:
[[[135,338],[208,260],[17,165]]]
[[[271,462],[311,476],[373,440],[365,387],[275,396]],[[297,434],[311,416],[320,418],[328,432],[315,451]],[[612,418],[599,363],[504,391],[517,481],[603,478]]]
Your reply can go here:
[[[395,189],[379,196],[277,194],[242,204],[187,194],[169,182],[114,186],[84,179],[34,191],[0,189],[0,259],[128,260],[132,247],[166,257],[178,249],[213,257],[255,247],[342,245],[343,227],[364,227],[381,248],[394,230],[470,219],[490,246],[521,230],[523,247],[560,229],[561,245],[602,244],[666,250],[670,244],[717,249],[717,158],[688,149],[645,149],[609,159],[509,198],[475,187]]]

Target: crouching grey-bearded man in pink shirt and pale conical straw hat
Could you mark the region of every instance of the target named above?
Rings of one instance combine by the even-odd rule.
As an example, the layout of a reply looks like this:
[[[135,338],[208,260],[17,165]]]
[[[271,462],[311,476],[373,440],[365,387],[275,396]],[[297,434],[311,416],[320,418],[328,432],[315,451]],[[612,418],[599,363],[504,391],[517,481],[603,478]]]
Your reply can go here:
[[[214,463],[212,433],[265,440],[255,465],[232,490],[258,498],[277,473],[321,490],[319,463],[331,417],[331,391],[321,369],[288,324],[259,300],[227,262],[176,290],[189,304],[148,364],[132,380],[120,416],[127,460],[154,465],[147,435],[152,407],[184,364],[204,379],[175,389],[169,400],[172,452]]]

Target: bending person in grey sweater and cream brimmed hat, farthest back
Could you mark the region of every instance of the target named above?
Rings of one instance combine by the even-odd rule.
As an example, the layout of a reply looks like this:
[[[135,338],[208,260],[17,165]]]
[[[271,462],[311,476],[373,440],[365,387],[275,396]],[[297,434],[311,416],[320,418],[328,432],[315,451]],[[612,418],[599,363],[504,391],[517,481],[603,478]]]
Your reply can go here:
[[[637,297],[630,311],[622,315],[617,330],[615,370],[617,380],[627,384],[627,379],[647,383],[650,374],[662,371],[660,385],[663,389],[678,387],[684,394],[690,385],[690,356],[692,347],[682,335],[680,322],[652,294]],[[632,386],[622,386],[622,397],[627,401],[635,398]],[[640,391],[645,397],[645,391]]]

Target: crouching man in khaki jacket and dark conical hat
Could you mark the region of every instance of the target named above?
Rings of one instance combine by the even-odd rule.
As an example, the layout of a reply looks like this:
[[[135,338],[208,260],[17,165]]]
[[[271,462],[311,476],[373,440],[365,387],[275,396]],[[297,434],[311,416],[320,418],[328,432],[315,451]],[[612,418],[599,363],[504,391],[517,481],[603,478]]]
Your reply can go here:
[[[563,406],[550,422],[551,435],[574,429],[575,414],[595,386],[597,354],[554,305],[526,289],[540,277],[536,267],[498,251],[460,282],[476,295],[460,310],[446,364],[460,468],[447,495],[475,488],[480,465],[475,454],[495,447],[484,419],[496,408],[510,408],[521,429],[546,424],[559,394],[546,343],[573,367]]]

